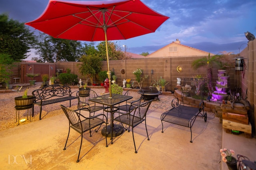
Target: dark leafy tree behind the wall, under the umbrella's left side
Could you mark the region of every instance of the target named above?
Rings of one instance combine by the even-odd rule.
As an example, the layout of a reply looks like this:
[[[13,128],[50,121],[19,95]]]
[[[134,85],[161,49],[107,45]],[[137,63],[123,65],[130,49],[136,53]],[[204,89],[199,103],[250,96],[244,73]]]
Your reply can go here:
[[[39,58],[36,61],[54,63],[57,61],[78,61],[82,53],[82,44],[80,41],[58,39],[45,33],[38,36],[36,46]]]

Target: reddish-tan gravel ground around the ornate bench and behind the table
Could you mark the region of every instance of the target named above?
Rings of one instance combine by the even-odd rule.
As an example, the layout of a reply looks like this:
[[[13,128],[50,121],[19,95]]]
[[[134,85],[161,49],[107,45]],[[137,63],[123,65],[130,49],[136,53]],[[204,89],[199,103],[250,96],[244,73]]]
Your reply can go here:
[[[31,95],[33,90],[40,88],[40,84],[36,84],[35,86],[28,86],[28,95]],[[0,131],[4,131],[6,129],[10,129],[12,127],[18,126],[18,122],[16,122],[16,109],[14,98],[17,96],[22,96],[26,87],[22,88],[21,92],[10,92],[10,93],[0,93]],[[72,88],[72,92],[78,90],[78,88]],[[98,95],[105,92],[104,88],[92,88]],[[125,93],[125,91],[123,92]],[[167,96],[167,95],[160,95],[158,100],[152,102],[150,109],[159,109],[162,111],[166,111],[170,109],[170,102],[174,96]],[[144,101],[144,100],[143,100]],[[64,114],[62,109],[60,109],[60,104],[69,107],[69,101],[46,105],[42,107],[42,119],[47,119],[49,117]],[[71,100],[71,108],[77,108],[78,101]],[[32,109],[28,109],[28,111],[32,111]],[[20,122],[20,125],[25,125],[27,123],[32,123],[34,121],[39,120],[39,112],[40,107],[35,105],[34,106],[34,117],[31,117],[30,121],[30,112],[28,113],[27,110],[20,110],[20,119],[26,119],[28,113],[28,120],[24,122]]]

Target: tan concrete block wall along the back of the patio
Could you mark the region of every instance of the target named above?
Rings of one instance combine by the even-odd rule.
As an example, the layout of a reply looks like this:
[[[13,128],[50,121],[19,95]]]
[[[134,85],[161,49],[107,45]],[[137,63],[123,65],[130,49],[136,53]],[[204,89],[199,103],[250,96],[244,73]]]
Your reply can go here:
[[[208,57],[208,56],[207,56]],[[230,59],[236,55],[228,56]],[[174,90],[177,85],[177,78],[181,78],[182,82],[185,77],[192,77],[197,74],[201,74],[206,77],[206,68],[202,67],[198,70],[194,70],[191,66],[192,62],[201,57],[166,57],[166,58],[142,58],[142,59],[130,59],[130,60],[116,60],[109,61],[110,71],[114,70],[114,74],[118,77],[117,84],[122,85],[123,79],[131,78],[131,81],[136,81],[135,76],[132,73],[137,68],[143,70],[143,74],[147,74],[148,78],[143,82],[142,87],[150,86],[154,84],[154,79],[162,76],[169,83],[166,85],[166,90]],[[234,61],[232,61],[234,62]],[[56,64],[57,68],[66,70],[66,68],[71,69],[71,73],[77,74],[78,77],[85,79],[85,76],[82,76],[79,72],[79,62],[58,62]],[[182,72],[177,71],[177,67],[182,67]],[[125,70],[125,73],[121,73],[121,69]],[[151,70],[153,69],[153,74],[151,75]],[[102,70],[108,70],[107,62],[102,61]],[[231,68],[230,73],[230,86],[232,88],[237,86],[237,82],[234,80],[234,69]],[[152,76],[152,78],[151,78]],[[151,81],[152,80],[152,81]],[[213,86],[215,87],[216,80],[218,80],[217,69],[213,69]],[[100,83],[98,77],[96,76],[96,82]],[[135,86],[138,84],[135,82]],[[182,84],[181,84],[182,85]]]

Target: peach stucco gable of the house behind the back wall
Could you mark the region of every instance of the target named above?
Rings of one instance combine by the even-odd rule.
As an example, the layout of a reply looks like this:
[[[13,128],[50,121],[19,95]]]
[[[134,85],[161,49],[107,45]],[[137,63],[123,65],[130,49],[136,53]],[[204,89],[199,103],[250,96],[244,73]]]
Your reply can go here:
[[[208,52],[180,44],[177,39],[161,49],[147,55],[146,57],[190,57],[190,56],[206,56]],[[210,56],[214,54],[210,53]]]

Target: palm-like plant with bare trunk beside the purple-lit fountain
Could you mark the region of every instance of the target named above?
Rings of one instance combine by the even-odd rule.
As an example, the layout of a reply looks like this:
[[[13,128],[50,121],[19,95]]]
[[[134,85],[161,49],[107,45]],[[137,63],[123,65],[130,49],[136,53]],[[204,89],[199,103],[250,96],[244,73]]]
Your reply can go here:
[[[192,63],[192,68],[194,68],[194,70],[204,66],[207,69],[207,86],[208,86],[208,90],[209,90],[209,96],[212,95],[213,92],[213,87],[212,87],[212,68],[215,67],[221,67],[222,66],[222,62],[220,61],[220,59],[222,58],[222,56],[220,55],[214,55],[210,57],[210,53],[208,58],[207,57],[203,57],[202,59],[197,59],[195,61],[193,61]]]

